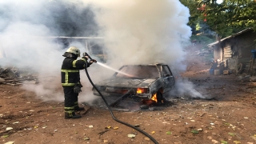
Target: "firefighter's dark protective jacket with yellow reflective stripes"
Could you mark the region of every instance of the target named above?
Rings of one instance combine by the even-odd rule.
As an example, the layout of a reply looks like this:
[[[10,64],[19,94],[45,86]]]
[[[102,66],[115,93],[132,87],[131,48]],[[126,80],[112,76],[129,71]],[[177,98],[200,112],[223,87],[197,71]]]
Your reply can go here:
[[[66,57],[62,62],[62,86],[63,87],[73,87],[75,84],[80,83],[80,73],[79,70],[85,69],[86,58],[81,59]],[[90,63],[87,62],[87,67]]]

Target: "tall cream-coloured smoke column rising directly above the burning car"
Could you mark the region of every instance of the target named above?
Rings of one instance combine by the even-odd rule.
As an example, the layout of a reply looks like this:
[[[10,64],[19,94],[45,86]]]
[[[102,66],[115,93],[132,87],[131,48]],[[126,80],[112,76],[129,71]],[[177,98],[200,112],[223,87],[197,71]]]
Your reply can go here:
[[[174,66],[185,58],[182,42],[191,35],[190,14],[178,0],[108,0],[94,5],[101,7],[95,12],[110,65],[165,62]]]

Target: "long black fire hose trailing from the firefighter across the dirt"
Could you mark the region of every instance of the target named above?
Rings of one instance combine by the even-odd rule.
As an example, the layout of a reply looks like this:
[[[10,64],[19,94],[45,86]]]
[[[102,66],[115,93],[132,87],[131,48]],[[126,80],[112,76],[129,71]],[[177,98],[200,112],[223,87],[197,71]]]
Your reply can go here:
[[[86,68],[85,68],[85,70],[86,70],[87,78],[88,78],[89,81],[90,81],[90,84],[91,84],[92,86],[94,86],[94,89],[97,90],[97,91],[98,91],[98,94],[101,95],[103,101],[106,103],[106,106],[107,106],[108,110],[110,110],[110,114],[111,114],[112,118],[113,118],[115,121],[117,121],[117,122],[119,122],[119,123],[122,123],[123,125],[130,126],[131,128],[133,128],[133,129],[135,129],[135,130],[138,130],[139,132],[141,132],[142,134],[144,134],[144,135],[146,135],[148,138],[150,138],[151,141],[153,141],[155,144],[158,144],[158,142],[157,142],[153,137],[151,137],[150,134],[147,134],[145,131],[138,129],[138,127],[132,126],[132,125],[130,125],[129,123],[126,123],[126,122],[122,122],[122,121],[118,120],[118,118],[115,118],[115,117],[114,117],[114,114],[113,114],[113,112],[112,112],[112,110],[111,110],[109,104],[106,102],[106,99],[103,97],[102,93],[98,90],[98,88],[94,85],[94,82],[92,82],[91,79],[90,79],[90,75],[88,74],[88,70],[87,70],[87,62],[86,62]]]

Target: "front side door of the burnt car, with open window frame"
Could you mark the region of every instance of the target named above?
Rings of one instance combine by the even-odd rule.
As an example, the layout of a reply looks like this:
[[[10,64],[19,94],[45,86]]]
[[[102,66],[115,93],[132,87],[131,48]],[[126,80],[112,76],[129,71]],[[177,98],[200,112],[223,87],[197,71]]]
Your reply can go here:
[[[165,86],[164,86],[164,93],[165,93],[166,91],[171,90],[171,88],[174,86],[174,83],[175,83],[174,76],[171,73],[169,66],[167,65],[162,66],[162,78],[165,82]]]

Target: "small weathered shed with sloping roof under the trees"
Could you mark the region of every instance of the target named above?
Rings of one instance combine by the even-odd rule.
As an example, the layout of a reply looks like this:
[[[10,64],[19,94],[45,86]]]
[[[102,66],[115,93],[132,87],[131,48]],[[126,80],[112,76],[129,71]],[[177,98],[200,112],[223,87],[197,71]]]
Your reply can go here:
[[[251,50],[256,49],[255,40],[256,31],[249,28],[210,43],[208,47],[214,50],[214,61],[223,63],[221,73],[223,70],[238,73],[242,68],[249,68]]]

